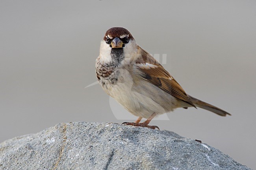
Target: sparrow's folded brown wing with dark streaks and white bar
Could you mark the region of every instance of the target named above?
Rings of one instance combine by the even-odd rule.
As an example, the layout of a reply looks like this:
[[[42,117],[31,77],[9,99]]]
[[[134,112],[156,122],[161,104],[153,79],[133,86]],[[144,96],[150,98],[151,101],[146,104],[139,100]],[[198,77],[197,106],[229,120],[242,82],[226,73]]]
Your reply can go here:
[[[139,58],[135,61],[135,68],[139,69],[140,76],[158,86],[177,99],[195,107],[183,88],[176,80],[156,61],[147,51],[138,47]]]

